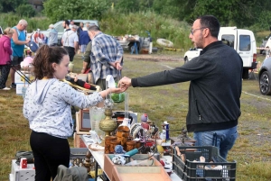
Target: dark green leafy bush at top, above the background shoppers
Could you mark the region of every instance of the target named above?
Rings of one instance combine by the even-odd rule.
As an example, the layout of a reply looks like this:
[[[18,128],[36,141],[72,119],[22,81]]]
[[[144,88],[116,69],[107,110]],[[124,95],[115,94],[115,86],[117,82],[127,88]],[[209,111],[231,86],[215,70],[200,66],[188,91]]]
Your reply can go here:
[[[109,8],[107,0],[47,0],[44,12],[52,22],[67,19],[97,19]]]

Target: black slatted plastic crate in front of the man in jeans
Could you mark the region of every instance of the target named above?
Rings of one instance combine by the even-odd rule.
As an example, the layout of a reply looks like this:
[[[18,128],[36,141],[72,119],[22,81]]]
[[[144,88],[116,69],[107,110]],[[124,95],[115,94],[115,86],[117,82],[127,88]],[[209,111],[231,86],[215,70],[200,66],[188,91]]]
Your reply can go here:
[[[173,170],[185,181],[232,181],[236,176],[236,162],[228,162],[220,157],[219,150],[216,147],[179,147],[180,152],[185,154],[185,162],[177,155],[174,149]],[[190,151],[188,151],[190,150]],[[206,162],[200,161],[203,156]],[[213,161],[213,163],[210,163]],[[220,169],[211,169],[210,166],[220,167]]]

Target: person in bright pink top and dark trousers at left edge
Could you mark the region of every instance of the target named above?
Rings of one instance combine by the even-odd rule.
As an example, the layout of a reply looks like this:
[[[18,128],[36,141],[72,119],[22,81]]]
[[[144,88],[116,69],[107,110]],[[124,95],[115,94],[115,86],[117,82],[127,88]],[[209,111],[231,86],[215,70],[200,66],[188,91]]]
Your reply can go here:
[[[13,50],[11,49],[11,38],[14,34],[14,30],[7,27],[4,31],[4,35],[0,38],[0,90],[10,90],[5,86],[11,63],[11,55]]]

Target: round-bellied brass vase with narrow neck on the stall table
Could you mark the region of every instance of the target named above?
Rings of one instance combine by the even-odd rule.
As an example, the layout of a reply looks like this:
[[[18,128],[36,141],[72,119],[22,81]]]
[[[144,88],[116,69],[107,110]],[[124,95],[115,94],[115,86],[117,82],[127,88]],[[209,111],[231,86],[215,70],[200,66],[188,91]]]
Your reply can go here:
[[[117,120],[112,119],[112,109],[105,109],[106,118],[101,120],[98,124],[98,127],[101,131],[106,132],[106,136],[110,136],[110,132],[117,129]]]

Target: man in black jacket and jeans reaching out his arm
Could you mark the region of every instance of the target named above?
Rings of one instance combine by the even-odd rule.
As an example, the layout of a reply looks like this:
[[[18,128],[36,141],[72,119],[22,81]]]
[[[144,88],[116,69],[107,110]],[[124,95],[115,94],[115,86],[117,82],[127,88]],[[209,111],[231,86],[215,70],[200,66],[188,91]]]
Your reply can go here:
[[[180,68],[145,77],[123,77],[118,86],[162,86],[191,81],[187,130],[194,132],[196,146],[217,146],[220,156],[227,158],[238,137],[243,61],[234,49],[218,41],[219,32],[216,17],[199,17],[189,36],[194,46],[202,49],[199,57]]]

